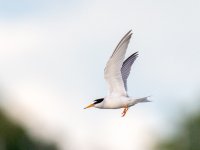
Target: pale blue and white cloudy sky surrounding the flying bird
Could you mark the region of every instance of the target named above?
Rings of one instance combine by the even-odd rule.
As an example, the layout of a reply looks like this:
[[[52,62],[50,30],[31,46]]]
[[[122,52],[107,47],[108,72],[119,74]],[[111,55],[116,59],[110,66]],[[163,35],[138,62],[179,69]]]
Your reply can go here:
[[[198,103],[199,1],[1,3],[0,80],[12,93],[4,106],[31,133],[59,139],[61,149],[69,139],[72,149],[151,149],[152,133],[163,135],[182,108]],[[103,69],[130,29],[127,56],[139,51],[139,58],[129,95],[153,102],[123,119],[121,110],[82,110],[106,94]]]

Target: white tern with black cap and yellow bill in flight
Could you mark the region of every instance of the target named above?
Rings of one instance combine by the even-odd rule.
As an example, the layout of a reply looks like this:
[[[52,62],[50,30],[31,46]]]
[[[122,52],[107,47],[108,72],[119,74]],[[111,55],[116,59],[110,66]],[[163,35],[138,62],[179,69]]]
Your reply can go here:
[[[133,53],[125,61],[125,53],[131,39],[131,30],[121,39],[104,69],[104,78],[109,86],[109,94],[104,98],[94,100],[86,108],[95,107],[100,109],[123,108],[122,117],[126,115],[129,107],[138,103],[150,102],[147,97],[132,98],[127,94],[127,79],[133,62],[138,57],[138,52]]]

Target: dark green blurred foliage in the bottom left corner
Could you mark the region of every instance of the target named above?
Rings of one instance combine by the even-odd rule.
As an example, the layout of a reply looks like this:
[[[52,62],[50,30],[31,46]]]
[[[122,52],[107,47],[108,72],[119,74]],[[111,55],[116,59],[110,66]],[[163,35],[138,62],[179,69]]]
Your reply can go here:
[[[0,110],[0,150],[56,150],[56,147],[31,139]]]

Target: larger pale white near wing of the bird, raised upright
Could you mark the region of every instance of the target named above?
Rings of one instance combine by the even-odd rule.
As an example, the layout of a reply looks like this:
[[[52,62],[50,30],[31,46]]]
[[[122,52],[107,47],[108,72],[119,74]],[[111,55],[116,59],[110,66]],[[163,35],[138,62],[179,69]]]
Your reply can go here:
[[[131,35],[132,33],[130,30],[121,39],[104,70],[104,78],[108,82],[110,94],[127,95],[122,79],[121,68]]]

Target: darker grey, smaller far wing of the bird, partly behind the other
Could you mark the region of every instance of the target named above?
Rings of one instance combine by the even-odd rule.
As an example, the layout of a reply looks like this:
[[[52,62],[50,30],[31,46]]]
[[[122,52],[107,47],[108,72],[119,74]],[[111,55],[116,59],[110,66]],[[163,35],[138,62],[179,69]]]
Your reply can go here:
[[[127,78],[130,74],[131,71],[131,66],[138,57],[138,52],[133,53],[131,56],[129,56],[123,63],[122,68],[121,68],[121,74],[122,74],[122,79],[124,81],[124,87],[127,91]]]

